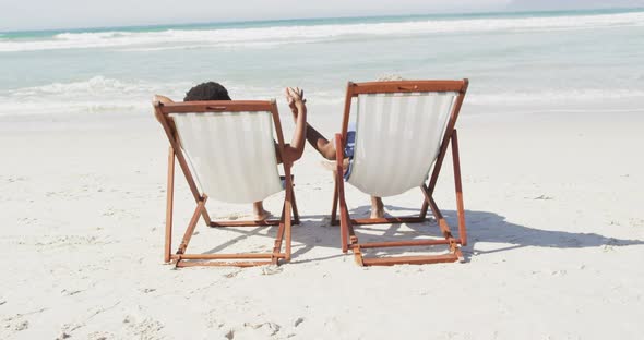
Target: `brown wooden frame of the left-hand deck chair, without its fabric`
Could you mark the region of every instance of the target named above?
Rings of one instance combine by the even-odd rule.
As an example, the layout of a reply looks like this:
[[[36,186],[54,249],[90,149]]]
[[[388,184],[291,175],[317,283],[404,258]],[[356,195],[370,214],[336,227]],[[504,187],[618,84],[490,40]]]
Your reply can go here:
[[[155,101],[154,110],[156,119],[160,122],[168,141],[170,142],[168,153],[168,187],[167,187],[167,205],[166,205],[166,232],[165,232],[165,247],[164,260],[166,263],[174,262],[177,267],[191,266],[238,266],[250,267],[260,265],[278,265],[281,259],[290,260],[291,255],[291,224],[299,224],[299,214],[295,201],[295,193],[293,191],[293,175],[290,169],[295,159],[289,159],[287,153],[284,151],[285,143],[282,133],[282,125],[279,123],[279,114],[277,112],[277,105],[275,100],[260,101],[260,100],[225,100],[225,101],[190,101],[190,102],[172,102],[162,104]],[[188,167],[186,156],[180,147],[179,135],[177,127],[170,113],[191,113],[200,114],[204,112],[247,112],[247,111],[267,111],[273,117],[273,123],[277,135],[278,156],[282,159],[284,167],[285,181],[285,197],[282,207],[282,215],[279,219],[269,220],[247,220],[247,221],[228,221],[219,220],[213,221],[207,212],[205,203],[207,196],[202,195],[196,186],[194,177]],[[188,186],[194,197],[196,207],[192,214],[192,218],[188,223],[188,228],[183,234],[182,241],[175,253],[172,247],[172,206],[175,196],[175,161],[179,163]],[[225,159],[223,161],[226,161]],[[293,220],[290,216],[293,214]],[[275,238],[273,252],[271,253],[238,253],[238,254],[188,254],[186,250],[194,233],[200,216],[206,226],[210,227],[261,227],[261,226],[278,226],[277,235]],[[286,218],[288,217],[288,218]],[[285,241],[285,251],[282,252],[282,243]]]

